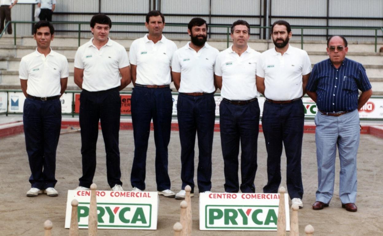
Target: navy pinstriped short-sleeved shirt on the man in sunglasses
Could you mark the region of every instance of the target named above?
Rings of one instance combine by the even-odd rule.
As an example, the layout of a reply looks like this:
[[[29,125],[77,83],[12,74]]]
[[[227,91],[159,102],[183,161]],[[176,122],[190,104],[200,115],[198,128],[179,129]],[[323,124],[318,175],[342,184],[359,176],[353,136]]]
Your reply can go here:
[[[366,70],[362,64],[345,58],[337,69],[330,59],[314,65],[307,90],[318,95],[319,111],[354,111],[358,108],[358,90],[370,90]]]

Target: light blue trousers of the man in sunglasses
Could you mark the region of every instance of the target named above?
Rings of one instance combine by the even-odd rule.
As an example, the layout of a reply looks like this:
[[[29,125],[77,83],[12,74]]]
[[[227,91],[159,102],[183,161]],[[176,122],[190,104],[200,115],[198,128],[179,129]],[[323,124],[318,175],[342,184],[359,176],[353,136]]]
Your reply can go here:
[[[342,203],[355,203],[357,195],[357,152],[360,127],[358,110],[342,116],[315,116],[318,190],[316,201],[328,204],[334,194],[335,159],[338,146],[339,196]]]

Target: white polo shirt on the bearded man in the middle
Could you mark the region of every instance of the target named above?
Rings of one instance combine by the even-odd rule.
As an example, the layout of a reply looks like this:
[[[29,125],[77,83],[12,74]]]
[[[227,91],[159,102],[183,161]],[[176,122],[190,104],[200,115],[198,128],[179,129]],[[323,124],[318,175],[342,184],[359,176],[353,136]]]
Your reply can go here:
[[[180,93],[213,93],[214,64],[218,49],[207,42],[196,52],[190,42],[174,52],[172,71],[181,73]]]

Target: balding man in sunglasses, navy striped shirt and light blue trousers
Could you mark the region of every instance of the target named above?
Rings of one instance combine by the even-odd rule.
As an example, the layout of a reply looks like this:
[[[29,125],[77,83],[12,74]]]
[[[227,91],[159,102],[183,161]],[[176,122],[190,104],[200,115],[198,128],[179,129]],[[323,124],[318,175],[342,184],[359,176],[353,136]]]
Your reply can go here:
[[[314,65],[307,94],[318,107],[315,142],[318,161],[318,190],[314,210],[328,207],[334,193],[336,148],[339,149],[339,197],[342,207],[356,212],[357,166],[360,126],[358,110],[372,95],[362,64],[345,58],[347,40],[327,40],[329,59]],[[362,91],[358,98],[358,90]]]

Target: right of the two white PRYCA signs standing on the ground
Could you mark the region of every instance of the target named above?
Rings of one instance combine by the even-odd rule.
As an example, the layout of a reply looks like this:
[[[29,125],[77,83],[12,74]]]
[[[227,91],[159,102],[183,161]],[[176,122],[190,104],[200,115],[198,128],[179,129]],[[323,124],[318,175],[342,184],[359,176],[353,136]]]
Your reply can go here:
[[[277,231],[279,194],[200,193],[200,230]],[[290,231],[285,194],[286,231]]]

